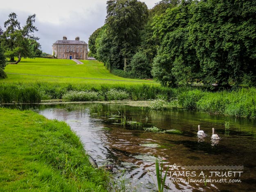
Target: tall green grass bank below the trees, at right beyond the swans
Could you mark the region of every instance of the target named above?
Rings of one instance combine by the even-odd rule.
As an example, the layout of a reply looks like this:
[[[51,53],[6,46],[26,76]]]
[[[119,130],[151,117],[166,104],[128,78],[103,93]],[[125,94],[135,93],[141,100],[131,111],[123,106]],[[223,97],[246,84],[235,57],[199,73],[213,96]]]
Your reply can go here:
[[[256,117],[256,88],[216,93],[203,90],[187,90],[178,95],[183,108],[197,109],[207,113],[218,113],[236,117]]]

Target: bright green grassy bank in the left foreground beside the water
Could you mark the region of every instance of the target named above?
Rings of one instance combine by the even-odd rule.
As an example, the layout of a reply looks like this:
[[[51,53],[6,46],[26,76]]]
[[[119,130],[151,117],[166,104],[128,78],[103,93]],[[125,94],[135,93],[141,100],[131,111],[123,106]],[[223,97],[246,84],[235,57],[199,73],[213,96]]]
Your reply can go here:
[[[0,108],[0,124],[0,191],[106,191],[66,123]]]

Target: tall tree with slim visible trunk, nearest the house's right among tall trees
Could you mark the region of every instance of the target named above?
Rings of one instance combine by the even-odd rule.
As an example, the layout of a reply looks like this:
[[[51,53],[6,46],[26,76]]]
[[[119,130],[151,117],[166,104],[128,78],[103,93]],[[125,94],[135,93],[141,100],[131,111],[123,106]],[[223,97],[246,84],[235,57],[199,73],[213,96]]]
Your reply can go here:
[[[109,36],[120,45],[124,58],[124,70],[127,70],[131,57],[140,43],[140,31],[148,18],[147,5],[138,0],[107,1],[106,24]]]

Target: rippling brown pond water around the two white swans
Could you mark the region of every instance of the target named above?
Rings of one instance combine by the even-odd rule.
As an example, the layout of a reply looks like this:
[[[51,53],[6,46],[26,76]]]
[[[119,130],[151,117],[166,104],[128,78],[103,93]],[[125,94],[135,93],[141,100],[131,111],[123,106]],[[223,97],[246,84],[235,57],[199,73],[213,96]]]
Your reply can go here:
[[[169,191],[256,190],[255,120],[117,103],[33,108],[67,122],[99,166],[114,165],[113,174],[120,183],[125,180],[127,191],[156,190],[156,158],[164,173],[168,169]],[[197,137],[198,125],[207,134],[204,138]],[[211,139],[213,127],[220,140]]]

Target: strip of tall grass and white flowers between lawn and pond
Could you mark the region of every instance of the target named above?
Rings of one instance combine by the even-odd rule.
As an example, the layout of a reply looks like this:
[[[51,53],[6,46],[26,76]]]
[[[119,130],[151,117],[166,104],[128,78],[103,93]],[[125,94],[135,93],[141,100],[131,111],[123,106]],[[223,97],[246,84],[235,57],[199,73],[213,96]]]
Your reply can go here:
[[[0,103],[40,102],[41,99],[92,100],[147,100],[157,95],[174,97],[172,88],[147,84],[59,84],[59,83],[1,83]]]

